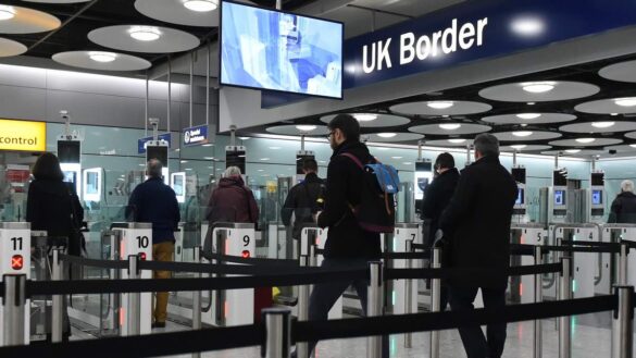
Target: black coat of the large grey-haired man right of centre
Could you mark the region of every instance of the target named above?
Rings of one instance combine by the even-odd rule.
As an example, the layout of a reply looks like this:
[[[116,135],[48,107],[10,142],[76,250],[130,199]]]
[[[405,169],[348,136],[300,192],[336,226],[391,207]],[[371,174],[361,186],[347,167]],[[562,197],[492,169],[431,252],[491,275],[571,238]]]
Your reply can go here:
[[[462,171],[439,226],[450,237],[450,266],[506,269],[510,266],[510,220],[516,183],[498,157],[484,157]],[[492,277],[499,286],[507,277]],[[489,286],[488,284],[487,286]]]

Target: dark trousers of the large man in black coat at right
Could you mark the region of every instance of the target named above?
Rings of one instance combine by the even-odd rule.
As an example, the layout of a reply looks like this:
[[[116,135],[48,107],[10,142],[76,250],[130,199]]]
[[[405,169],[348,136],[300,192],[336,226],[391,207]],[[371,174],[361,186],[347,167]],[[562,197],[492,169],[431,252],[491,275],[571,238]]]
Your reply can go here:
[[[498,309],[506,306],[506,287],[481,287],[485,308]],[[450,286],[450,307],[453,311],[474,309],[473,301],[479,287]],[[459,329],[469,358],[499,358],[506,345],[506,323],[489,324],[486,336],[478,325]]]

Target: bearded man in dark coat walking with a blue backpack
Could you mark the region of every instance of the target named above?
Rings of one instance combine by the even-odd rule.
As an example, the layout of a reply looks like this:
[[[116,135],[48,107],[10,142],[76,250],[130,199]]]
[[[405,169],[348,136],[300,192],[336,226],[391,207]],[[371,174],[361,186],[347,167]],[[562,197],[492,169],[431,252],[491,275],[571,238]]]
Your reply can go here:
[[[363,224],[366,218],[361,217],[361,213],[374,209],[378,209],[378,212],[386,210],[384,197],[372,193],[366,185],[369,177],[364,165],[375,163],[375,159],[369,148],[360,143],[360,124],[353,116],[338,114],[327,126],[334,153],[327,169],[325,209],[317,215],[319,226],[328,227],[322,267],[333,270],[367,269],[369,261],[379,259],[382,250],[379,232],[371,231],[374,227],[370,223]],[[377,199],[375,208],[363,205],[371,197]],[[392,196],[386,202],[394,210],[395,218]],[[362,229],[363,225],[367,230]],[[329,309],[349,285],[358,292],[366,313],[366,280],[328,282],[314,285],[309,300],[309,319],[326,320]],[[309,343],[310,353],[315,345],[316,342]]]

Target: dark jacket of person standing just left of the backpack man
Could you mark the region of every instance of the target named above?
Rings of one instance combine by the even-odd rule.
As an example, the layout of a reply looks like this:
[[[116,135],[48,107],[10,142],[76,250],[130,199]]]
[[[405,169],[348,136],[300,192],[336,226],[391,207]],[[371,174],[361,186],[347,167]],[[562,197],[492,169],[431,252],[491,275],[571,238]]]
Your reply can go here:
[[[300,238],[303,224],[313,222],[313,214],[323,209],[320,201],[324,200],[325,184],[315,173],[309,173],[304,181],[295,185],[285,199],[285,205],[280,209],[280,218],[285,226],[291,223],[291,213],[294,213],[294,230],[291,237]]]

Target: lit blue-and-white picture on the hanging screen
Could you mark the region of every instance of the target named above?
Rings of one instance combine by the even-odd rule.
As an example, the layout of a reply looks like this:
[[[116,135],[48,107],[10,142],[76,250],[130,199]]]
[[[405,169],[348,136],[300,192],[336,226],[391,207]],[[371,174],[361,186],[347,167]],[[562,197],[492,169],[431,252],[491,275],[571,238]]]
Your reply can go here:
[[[342,24],[224,1],[221,83],[342,97]]]

